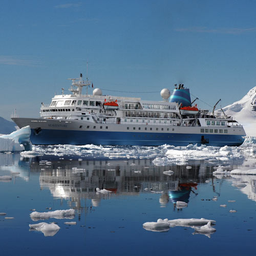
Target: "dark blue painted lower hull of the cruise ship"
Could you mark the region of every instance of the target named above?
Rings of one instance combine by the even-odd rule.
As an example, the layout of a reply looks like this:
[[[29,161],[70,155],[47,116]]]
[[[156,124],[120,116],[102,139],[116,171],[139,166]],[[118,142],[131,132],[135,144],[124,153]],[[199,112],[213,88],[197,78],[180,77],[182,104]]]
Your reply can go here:
[[[36,145],[140,145],[160,146],[169,144],[187,146],[202,144],[202,136],[209,141],[209,146],[240,146],[244,142],[241,135],[219,134],[180,134],[180,133],[135,133],[135,132],[103,132],[42,129],[36,133],[31,129],[31,142]]]

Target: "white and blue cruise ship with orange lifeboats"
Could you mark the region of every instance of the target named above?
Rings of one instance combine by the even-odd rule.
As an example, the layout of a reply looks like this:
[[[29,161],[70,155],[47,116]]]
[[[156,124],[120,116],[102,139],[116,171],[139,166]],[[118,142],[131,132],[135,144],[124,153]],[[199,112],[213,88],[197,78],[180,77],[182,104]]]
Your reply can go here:
[[[162,101],[149,101],[102,95],[99,88],[89,94],[91,82],[82,74],[70,80],[71,94],[62,88],[49,105],[41,103],[40,118],[12,117],[20,128],[31,127],[33,144],[239,146],[244,142],[242,125],[215,108],[210,112],[193,106],[184,84],[175,84],[172,95],[163,89]]]

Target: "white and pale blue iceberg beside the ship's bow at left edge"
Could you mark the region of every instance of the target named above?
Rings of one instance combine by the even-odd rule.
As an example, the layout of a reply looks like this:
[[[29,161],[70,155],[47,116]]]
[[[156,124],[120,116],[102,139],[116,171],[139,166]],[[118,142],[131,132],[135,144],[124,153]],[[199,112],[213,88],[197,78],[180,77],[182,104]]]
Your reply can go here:
[[[25,126],[11,134],[0,136],[0,152],[31,151],[30,126]]]

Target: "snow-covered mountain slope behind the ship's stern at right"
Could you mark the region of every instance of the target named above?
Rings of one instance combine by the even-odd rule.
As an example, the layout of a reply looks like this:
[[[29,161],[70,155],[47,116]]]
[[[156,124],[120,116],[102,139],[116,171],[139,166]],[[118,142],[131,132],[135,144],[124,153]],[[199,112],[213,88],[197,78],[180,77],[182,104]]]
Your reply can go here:
[[[247,136],[256,136],[256,87],[252,88],[241,100],[225,106],[223,111],[244,125]]]

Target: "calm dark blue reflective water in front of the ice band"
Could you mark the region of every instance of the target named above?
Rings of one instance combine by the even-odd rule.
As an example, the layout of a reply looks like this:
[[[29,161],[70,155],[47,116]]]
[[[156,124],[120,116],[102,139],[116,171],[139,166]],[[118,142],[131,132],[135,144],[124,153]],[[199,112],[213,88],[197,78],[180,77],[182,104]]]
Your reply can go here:
[[[19,173],[10,182],[0,182],[0,212],[7,214],[0,216],[1,255],[256,254],[255,176],[212,176],[221,162],[191,161],[187,165],[192,168],[187,169],[186,165],[155,166],[152,159],[70,159],[0,154],[0,176]],[[235,169],[244,160],[225,164]],[[174,175],[164,175],[166,170]],[[97,187],[112,193],[97,194]],[[214,197],[218,200],[211,200]],[[176,201],[188,206],[177,209]],[[74,219],[30,218],[32,209],[44,212],[49,207],[73,208],[76,214]],[[231,209],[237,212],[230,213]],[[208,238],[193,234],[190,227],[167,232],[142,227],[159,218],[212,219],[217,231]],[[67,221],[77,224],[64,224]],[[29,231],[29,224],[39,222],[55,222],[60,229],[52,237]]]

